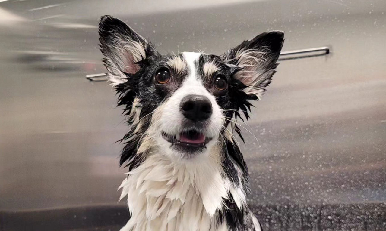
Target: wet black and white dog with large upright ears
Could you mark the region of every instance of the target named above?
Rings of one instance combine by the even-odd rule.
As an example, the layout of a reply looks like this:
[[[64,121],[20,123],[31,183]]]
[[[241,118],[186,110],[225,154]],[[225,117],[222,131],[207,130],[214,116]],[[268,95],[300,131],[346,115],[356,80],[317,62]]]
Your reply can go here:
[[[129,131],[121,231],[257,231],[248,169],[235,134],[276,72],[284,33],[271,31],[217,56],[161,55],[121,20],[103,16],[100,47]]]

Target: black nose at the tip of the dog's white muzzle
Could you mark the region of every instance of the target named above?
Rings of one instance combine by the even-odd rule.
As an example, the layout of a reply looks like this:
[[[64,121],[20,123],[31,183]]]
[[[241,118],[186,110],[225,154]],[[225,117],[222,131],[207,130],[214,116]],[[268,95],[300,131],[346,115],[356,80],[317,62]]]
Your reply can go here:
[[[182,114],[191,121],[203,121],[212,115],[212,103],[203,95],[186,95],[180,107]]]

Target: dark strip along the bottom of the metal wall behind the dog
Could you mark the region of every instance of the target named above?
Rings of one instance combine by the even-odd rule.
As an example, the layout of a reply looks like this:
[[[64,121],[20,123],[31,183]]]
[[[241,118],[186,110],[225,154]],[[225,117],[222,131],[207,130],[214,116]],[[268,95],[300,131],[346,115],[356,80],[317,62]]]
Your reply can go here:
[[[264,231],[386,230],[386,203],[324,206],[252,206]],[[119,231],[129,219],[124,206],[0,211],[0,231]]]

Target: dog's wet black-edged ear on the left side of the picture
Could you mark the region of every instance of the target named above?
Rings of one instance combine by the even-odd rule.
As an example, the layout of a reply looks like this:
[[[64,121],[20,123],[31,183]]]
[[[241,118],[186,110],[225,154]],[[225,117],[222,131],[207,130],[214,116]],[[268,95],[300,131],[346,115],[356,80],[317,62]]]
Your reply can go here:
[[[157,55],[154,46],[118,18],[103,16],[99,22],[99,42],[113,85],[127,82],[147,62],[141,62]]]

